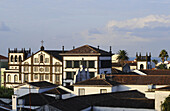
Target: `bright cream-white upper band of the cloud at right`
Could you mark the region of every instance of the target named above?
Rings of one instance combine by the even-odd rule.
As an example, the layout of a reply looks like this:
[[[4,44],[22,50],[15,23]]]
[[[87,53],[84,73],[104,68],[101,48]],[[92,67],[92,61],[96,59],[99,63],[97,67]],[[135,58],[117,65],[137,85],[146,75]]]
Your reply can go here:
[[[144,28],[144,27],[167,27],[170,26],[170,15],[149,15],[143,18],[134,18],[125,21],[110,21],[107,24],[108,29],[118,27],[125,29],[135,29],[135,28]]]

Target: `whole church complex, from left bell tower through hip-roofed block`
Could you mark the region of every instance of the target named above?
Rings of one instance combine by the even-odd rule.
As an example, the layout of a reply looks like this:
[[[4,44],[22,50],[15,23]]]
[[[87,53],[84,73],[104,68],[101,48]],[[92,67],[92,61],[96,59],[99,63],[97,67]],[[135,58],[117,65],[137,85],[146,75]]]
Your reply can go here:
[[[47,81],[57,85],[72,85],[76,78],[89,79],[97,74],[111,73],[110,52],[89,45],[65,51],[46,50],[36,53],[31,49],[8,49],[8,70],[4,72],[4,86],[15,87],[26,82]],[[81,76],[80,70],[88,74]],[[87,78],[80,78],[87,77]]]

